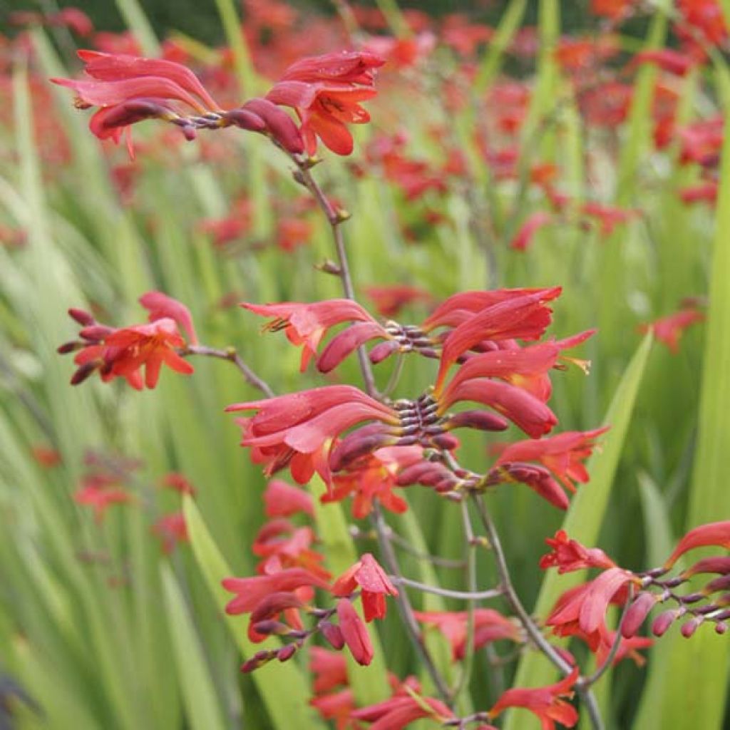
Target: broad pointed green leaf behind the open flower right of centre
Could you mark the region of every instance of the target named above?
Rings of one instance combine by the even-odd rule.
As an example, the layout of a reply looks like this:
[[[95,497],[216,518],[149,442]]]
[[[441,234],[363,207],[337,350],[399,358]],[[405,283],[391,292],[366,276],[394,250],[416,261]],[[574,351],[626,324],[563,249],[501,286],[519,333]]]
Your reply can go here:
[[[613,477],[618,467],[626,432],[631,423],[631,415],[634,412],[634,403],[639,392],[639,384],[644,374],[651,343],[652,335],[647,334],[621,378],[621,383],[614,393],[604,419],[604,425],[610,425],[611,429],[602,439],[602,449],[596,450],[588,461],[591,481],[577,491],[563,522],[563,529],[567,534],[588,547],[595,545],[599,537]],[[585,571],[576,571],[561,576],[558,576],[556,571],[548,572],[542,581],[534,615],[544,618],[561,593],[583,580],[585,580]],[[542,654],[530,652],[526,653],[520,661],[514,686],[541,687],[555,680],[556,669],[553,665],[549,664]],[[519,720],[520,718],[515,717],[515,713],[510,713],[504,726],[505,730],[517,730]]]

